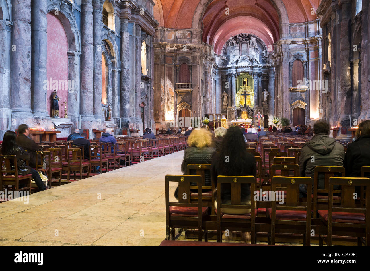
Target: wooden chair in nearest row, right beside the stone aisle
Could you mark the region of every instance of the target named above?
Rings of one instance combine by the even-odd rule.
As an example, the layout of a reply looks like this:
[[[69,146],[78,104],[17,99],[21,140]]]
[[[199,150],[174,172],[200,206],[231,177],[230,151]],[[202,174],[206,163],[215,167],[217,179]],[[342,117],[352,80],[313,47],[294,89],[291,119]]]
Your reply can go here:
[[[178,183],[179,201],[169,201],[169,182]],[[166,240],[171,235],[175,240],[175,228],[197,229],[198,241],[202,241],[203,218],[208,212],[208,207],[202,207],[202,197],[196,202],[191,202],[190,183],[198,184],[198,194],[202,193],[201,175],[166,175]]]

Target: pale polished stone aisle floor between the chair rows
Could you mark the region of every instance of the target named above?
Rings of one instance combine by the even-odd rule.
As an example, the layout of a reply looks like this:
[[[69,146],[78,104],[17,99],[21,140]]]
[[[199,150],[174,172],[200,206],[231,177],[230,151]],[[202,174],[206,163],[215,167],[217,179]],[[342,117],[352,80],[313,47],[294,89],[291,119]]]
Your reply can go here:
[[[0,203],[0,245],[159,245],[183,151]],[[176,184],[171,187],[174,200]]]

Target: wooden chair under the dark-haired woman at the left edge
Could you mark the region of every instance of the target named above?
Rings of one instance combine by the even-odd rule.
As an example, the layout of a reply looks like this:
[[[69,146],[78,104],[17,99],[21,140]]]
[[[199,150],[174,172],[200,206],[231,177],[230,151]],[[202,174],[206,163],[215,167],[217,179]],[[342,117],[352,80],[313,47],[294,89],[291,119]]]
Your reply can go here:
[[[23,176],[18,174],[17,157],[15,155],[0,155],[0,164],[5,166],[5,168],[0,166],[0,191],[4,189],[4,186],[8,188],[11,185],[13,191],[14,188],[15,191],[29,190],[31,194],[32,175]],[[14,169],[11,169],[11,166]],[[27,183],[28,186],[19,188],[20,182]]]

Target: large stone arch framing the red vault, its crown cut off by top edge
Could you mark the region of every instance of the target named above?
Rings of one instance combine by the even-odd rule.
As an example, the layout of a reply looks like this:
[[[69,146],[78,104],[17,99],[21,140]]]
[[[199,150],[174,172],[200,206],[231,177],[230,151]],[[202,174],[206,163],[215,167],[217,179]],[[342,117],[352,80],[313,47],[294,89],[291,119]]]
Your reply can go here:
[[[202,28],[203,15],[213,0],[200,0],[198,6],[194,11],[192,28]],[[275,7],[277,14],[279,14],[280,23],[280,38],[287,37],[289,35],[289,18],[285,4],[282,0],[270,0],[272,5]]]

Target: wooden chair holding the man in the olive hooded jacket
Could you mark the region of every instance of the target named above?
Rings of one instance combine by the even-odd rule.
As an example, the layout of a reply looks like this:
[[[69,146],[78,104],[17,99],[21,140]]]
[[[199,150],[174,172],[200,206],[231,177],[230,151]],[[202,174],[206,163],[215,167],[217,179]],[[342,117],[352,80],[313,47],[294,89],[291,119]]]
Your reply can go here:
[[[324,188],[318,189],[319,185],[319,174],[324,174]],[[346,176],[346,170],[342,166],[316,166],[314,170],[313,178],[313,218],[317,218],[317,210],[327,210],[329,204],[329,177],[333,177],[334,174],[342,175],[341,177]],[[320,195],[318,195],[320,193]],[[334,190],[334,193],[340,193],[340,190]],[[325,194],[325,195],[323,195]],[[307,198],[309,198],[307,194]],[[333,197],[334,203],[338,204],[340,198],[335,196]]]

